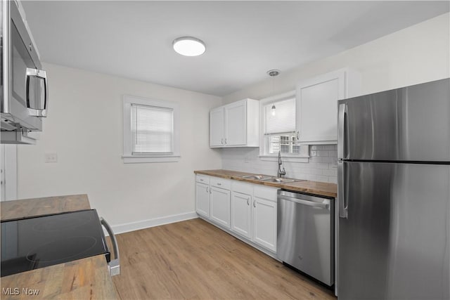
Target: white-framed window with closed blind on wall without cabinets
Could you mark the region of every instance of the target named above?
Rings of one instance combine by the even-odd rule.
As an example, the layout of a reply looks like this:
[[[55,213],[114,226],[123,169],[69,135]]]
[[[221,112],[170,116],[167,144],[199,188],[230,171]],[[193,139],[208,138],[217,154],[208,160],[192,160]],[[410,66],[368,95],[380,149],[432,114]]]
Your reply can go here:
[[[179,159],[178,105],[124,96],[124,163]]]

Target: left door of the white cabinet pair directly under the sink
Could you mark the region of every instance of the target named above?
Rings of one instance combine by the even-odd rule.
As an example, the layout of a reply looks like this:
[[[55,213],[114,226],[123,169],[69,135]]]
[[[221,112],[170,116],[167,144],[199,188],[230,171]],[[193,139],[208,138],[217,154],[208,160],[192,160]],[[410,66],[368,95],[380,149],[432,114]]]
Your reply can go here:
[[[252,196],[242,193],[231,193],[231,230],[244,237],[251,238]]]

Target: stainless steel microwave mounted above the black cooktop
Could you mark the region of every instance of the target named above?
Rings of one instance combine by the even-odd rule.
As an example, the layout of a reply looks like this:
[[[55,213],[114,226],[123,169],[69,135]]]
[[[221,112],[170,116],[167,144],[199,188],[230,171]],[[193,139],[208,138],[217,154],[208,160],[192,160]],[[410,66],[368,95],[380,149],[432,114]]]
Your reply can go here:
[[[1,1],[1,143],[34,143],[49,105],[49,85],[18,1]]]

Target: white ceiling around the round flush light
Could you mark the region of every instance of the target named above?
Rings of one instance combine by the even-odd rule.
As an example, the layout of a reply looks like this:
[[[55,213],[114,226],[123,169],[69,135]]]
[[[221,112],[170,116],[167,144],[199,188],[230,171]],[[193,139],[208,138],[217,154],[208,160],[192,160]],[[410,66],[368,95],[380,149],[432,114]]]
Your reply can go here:
[[[449,1],[25,1],[47,63],[224,96],[449,11]],[[172,49],[205,41],[203,56]]]

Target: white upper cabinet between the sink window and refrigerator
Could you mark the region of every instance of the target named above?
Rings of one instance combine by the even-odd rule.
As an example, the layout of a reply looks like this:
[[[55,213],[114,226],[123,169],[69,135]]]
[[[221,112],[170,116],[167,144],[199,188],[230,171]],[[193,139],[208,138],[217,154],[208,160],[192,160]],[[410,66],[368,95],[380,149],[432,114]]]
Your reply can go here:
[[[358,96],[359,76],[348,68],[297,84],[297,138],[304,145],[338,143],[338,100]]]

